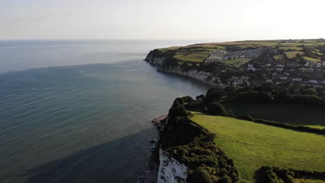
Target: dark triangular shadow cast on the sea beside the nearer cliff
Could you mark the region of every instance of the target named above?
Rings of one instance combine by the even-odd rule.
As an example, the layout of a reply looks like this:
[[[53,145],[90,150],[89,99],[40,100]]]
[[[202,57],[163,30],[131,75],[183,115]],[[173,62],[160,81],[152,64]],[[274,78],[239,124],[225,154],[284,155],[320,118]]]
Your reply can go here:
[[[136,173],[147,168],[149,141],[156,135],[149,128],[32,168],[23,176],[27,183],[135,182]]]

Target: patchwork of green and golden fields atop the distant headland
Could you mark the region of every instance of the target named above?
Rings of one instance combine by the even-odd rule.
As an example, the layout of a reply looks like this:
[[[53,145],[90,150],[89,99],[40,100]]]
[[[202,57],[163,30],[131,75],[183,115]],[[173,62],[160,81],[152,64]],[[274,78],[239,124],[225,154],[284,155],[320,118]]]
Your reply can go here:
[[[298,41],[298,40],[297,40]],[[167,55],[172,55],[173,58],[179,60],[181,62],[205,62],[206,59],[210,56],[210,52],[216,50],[224,50],[228,52],[249,50],[249,49],[258,49],[262,47],[271,47],[272,49],[279,51],[284,51],[284,54],[274,55],[276,60],[280,60],[281,62],[288,62],[290,59],[295,58],[297,53],[300,53],[303,58],[307,61],[319,62],[322,59],[322,51],[319,50],[319,45],[324,44],[324,42],[316,42],[313,40],[305,40],[304,42],[294,42],[294,43],[283,43],[277,40],[274,41],[240,41],[240,42],[211,42],[211,43],[203,43],[203,44],[191,44],[188,46],[172,46],[165,49],[158,49],[162,53],[167,53]],[[279,47],[278,47],[279,46]],[[305,49],[306,46],[309,46],[313,55],[306,55]],[[317,48],[317,49],[316,49]],[[307,57],[309,56],[309,57]],[[313,56],[314,58],[311,58]],[[254,56],[253,58],[255,58]],[[251,57],[230,57],[225,59],[224,63],[234,66],[240,67],[242,64],[251,60]],[[248,59],[249,58],[249,59]],[[207,60],[211,62],[210,60]],[[213,60],[214,62],[215,60]],[[219,60],[217,60],[219,61]]]

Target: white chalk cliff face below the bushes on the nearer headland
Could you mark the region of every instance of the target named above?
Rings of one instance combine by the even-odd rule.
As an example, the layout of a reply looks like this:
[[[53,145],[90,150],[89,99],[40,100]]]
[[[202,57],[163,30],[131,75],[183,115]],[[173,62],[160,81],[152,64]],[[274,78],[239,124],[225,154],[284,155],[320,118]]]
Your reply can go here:
[[[158,183],[186,182],[188,178],[188,167],[170,157],[168,153],[160,148],[160,166],[158,171]]]

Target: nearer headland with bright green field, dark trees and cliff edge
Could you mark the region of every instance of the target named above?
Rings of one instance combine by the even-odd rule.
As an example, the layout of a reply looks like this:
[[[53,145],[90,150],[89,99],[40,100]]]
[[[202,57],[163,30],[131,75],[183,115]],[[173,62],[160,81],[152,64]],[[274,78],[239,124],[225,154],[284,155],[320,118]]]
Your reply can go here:
[[[285,123],[225,107],[290,106],[297,118],[301,107],[322,113],[322,89],[312,90],[264,84],[176,98],[160,132],[158,182],[325,182],[324,119]]]

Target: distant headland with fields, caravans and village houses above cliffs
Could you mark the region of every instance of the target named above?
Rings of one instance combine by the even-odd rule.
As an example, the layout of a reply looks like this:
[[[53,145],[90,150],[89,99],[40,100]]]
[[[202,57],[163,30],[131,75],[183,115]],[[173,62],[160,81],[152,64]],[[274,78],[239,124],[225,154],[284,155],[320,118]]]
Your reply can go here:
[[[325,86],[325,40],[269,40],[192,44],[150,51],[158,71],[218,87]]]

